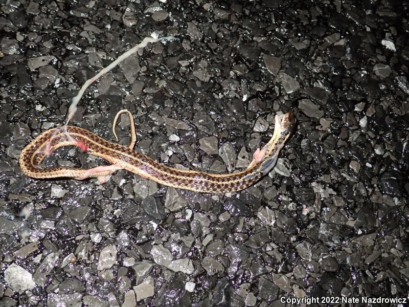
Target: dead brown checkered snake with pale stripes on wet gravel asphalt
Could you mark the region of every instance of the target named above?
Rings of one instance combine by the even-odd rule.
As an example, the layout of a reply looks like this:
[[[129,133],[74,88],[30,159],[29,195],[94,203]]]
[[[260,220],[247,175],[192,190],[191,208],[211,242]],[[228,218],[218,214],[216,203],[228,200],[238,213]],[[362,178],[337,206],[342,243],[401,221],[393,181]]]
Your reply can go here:
[[[112,125],[114,134],[118,115],[124,112],[128,111],[121,110],[114,120]],[[135,127],[129,112],[128,115],[131,119],[131,142],[129,146],[107,141],[77,126],[56,127],[39,134],[21,150],[19,156],[21,171],[28,177],[35,179],[74,178],[83,180],[89,177],[102,178],[109,176],[115,170],[126,169],[144,179],[168,187],[202,193],[235,192],[257,183],[276,165],[279,152],[296,125],[296,119],[290,112],[276,115],[271,139],[261,149],[255,151],[253,160],[247,168],[230,173],[208,173],[190,169],[176,169],[158,163],[132,149],[136,140]],[[46,156],[63,146],[80,147],[86,153],[103,158],[111,165],[92,169],[65,166],[44,168],[41,166],[41,162]]]

